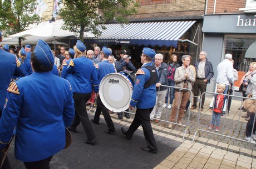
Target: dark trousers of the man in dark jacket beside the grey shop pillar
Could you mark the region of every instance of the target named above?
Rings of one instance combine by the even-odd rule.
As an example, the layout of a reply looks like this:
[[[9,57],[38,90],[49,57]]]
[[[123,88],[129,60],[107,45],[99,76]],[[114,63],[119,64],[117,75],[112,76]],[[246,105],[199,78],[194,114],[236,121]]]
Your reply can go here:
[[[200,90],[200,93],[204,93],[206,91],[206,86],[207,86],[207,83],[204,82],[204,79],[196,79],[195,80],[195,83],[194,83],[194,86],[193,86],[193,93],[194,93],[194,101],[193,101],[193,107],[196,107],[196,104],[198,103],[198,95],[199,95],[199,90]],[[204,109],[204,100],[205,100],[205,95],[202,96],[201,98],[202,100],[202,104],[201,104],[201,108]]]

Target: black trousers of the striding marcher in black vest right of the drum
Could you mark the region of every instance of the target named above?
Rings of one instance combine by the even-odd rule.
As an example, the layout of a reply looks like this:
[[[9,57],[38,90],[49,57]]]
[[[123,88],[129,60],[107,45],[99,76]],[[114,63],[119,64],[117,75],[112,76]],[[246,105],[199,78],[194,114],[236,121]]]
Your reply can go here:
[[[146,140],[147,146],[153,150],[157,151],[156,141],[153,134],[153,130],[150,124],[150,112],[153,110],[154,107],[150,109],[138,109],[136,110],[136,114],[134,117],[134,121],[132,121],[128,131],[126,132],[126,135],[129,137],[132,137],[134,132],[138,129],[138,127],[141,125],[144,137]]]

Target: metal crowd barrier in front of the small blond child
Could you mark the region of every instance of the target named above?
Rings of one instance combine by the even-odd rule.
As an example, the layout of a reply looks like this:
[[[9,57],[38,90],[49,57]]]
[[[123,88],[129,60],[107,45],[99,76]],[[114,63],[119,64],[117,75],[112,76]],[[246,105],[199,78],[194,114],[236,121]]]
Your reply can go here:
[[[205,94],[210,94],[210,95],[214,96],[218,93],[212,93],[212,92],[207,92],[206,91],[206,92],[202,93],[201,96],[203,96]],[[230,97],[237,98],[238,100],[241,100],[240,111],[239,111],[238,120],[237,120],[238,123],[235,124],[236,126],[234,126],[234,125],[228,126],[230,124],[230,121],[233,120],[233,119],[228,119],[227,118],[227,116],[229,116],[229,112],[227,111],[227,106],[226,106],[225,111],[224,111],[224,116],[220,117],[220,132],[214,132],[213,129],[210,129],[210,130],[208,129],[208,127],[211,126],[211,120],[213,118],[212,117],[213,109],[211,110],[210,120],[209,120],[209,115],[208,114],[202,114],[200,109],[199,109],[197,130],[195,131],[195,134],[194,134],[194,137],[193,137],[193,140],[192,140],[191,143],[193,144],[196,134],[199,134],[199,137],[200,137],[200,131],[208,132],[208,133],[223,136],[223,137],[228,137],[230,139],[235,139],[235,140],[239,140],[239,141],[250,142],[251,140],[250,141],[244,140],[244,137],[243,137],[243,139],[239,139],[237,137],[234,137],[233,134],[234,133],[240,133],[241,128],[244,125],[244,122],[240,121],[240,116],[241,116],[242,107],[243,107],[243,99],[252,99],[252,98],[245,98],[245,97],[241,97],[241,96],[228,95],[228,94],[219,94],[219,95],[226,96],[227,100]],[[200,98],[201,98],[201,96],[200,96]],[[252,100],[256,101],[256,99],[252,99]],[[200,99],[199,107],[201,107],[201,99]],[[214,105],[213,105],[213,107],[214,107]],[[206,117],[206,118],[203,118],[203,117]],[[253,135],[253,129],[254,129],[254,125],[255,125],[255,118],[256,118],[256,114],[254,113],[254,121],[253,121],[253,125],[252,125],[251,136]],[[225,127],[225,129],[224,129],[224,127]],[[246,130],[245,130],[245,132],[246,132]]]

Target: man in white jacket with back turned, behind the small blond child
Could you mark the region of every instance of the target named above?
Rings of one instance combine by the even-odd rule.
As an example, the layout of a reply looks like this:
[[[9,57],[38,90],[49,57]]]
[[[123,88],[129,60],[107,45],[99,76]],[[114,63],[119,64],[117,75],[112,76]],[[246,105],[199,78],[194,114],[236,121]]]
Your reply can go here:
[[[217,66],[217,84],[225,84],[226,88],[223,91],[224,94],[228,93],[230,84],[234,84],[234,73],[233,73],[233,63],[232,54],[225,54],[224,60],[220,62]],[[216,89],[215,89],[216,90]],[[210,103],[210,109],[213,107],[213,100]],[[223,111],[226,109],[226,104],[223,106]]]

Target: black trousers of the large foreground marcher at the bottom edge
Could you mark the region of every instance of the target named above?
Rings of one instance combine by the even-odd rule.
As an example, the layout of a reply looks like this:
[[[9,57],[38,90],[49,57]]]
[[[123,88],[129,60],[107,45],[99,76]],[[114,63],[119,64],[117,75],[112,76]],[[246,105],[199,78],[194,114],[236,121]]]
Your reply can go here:
[[[27,169],[50,169],[49,163],[52,160],[52,157],[53,156],[50,156],[40,161],[23,162]]]

